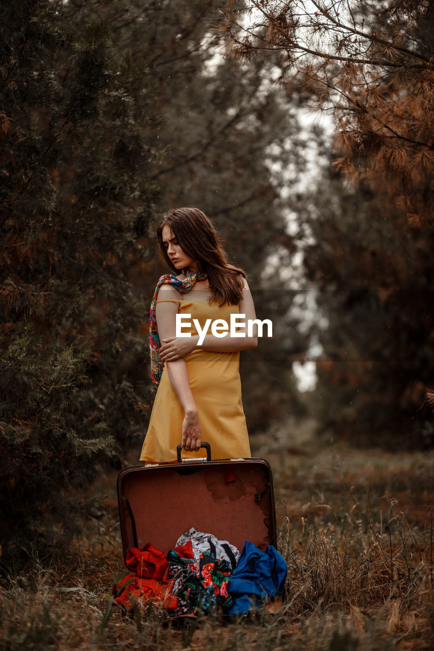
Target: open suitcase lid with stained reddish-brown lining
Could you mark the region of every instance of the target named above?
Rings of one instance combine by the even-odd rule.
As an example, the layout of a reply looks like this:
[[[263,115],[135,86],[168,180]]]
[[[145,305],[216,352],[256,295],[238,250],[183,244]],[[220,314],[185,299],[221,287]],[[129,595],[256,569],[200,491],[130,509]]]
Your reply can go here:
[[[192,527],[242,549],[276,547],[270,465],[263,459],[205,461],[126,468],[117,481],[124,559],[152,543],[167,553]]]

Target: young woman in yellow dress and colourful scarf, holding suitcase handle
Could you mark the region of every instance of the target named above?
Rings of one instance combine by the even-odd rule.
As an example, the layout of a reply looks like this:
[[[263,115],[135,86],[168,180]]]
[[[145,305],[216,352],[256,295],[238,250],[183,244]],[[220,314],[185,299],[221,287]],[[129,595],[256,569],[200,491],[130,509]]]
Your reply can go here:
[[[179,443],[183,456],[203,456],[202,440],[214,459],[250,457],[239,352],[256,348],[257,329],[250,336],[241,327],[237,333],[244,337],[216,337],[209,328],[199,345],[193,324],[196,319],[203,329],[207,320],[219,319],[229,325],[231,314],[245,314],[246,324],[255,319],[246,274],[227,262],[216,230],[197,208],[171,210],[157,237],[176,275],[160,278],[151,303],[152,380],[159,386],[140,460],[176,460]],[[175,337],[177,314],[190,316],[182,332],[191,337]]]

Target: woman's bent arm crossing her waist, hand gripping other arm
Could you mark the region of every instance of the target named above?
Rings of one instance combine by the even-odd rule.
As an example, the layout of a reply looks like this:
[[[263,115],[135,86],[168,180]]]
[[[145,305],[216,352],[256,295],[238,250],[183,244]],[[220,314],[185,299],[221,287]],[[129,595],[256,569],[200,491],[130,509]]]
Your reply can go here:
[[[227,333],[225,337],[205,335],[202,344],[199,346],[199,335],[192,337],[170,337],[162,340],[160,356],[164,361],[173,361],[179,357],[185,357],[194,350],[210,350],[218,353],[232,353],[239,350],[248,350],[257,347],[257,325],[253,323],[252,333],[248,333],[248,322],[256,318],[255,306],[253,305],[252,294],[250,293],[247,281],[244,280],[242,299],[239,303],[240,314],[244,314],[245,326],[237,327],[237,333],[244,334],[244,337],[231,337]]]

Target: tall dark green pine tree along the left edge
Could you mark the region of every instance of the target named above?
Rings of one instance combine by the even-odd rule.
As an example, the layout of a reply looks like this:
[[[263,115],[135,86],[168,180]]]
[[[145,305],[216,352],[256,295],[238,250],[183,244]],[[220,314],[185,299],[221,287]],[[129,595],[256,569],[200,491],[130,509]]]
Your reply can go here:
[[[3,559],[77,528],[101,465],[142,428],[143,303],[128,277],[156,189],[143,68],[61,2],[2,3]],[[146,259],[146,258],[145,258]],[[126,363],[124,362],[126,359]],[[134,359],[134,367],[132,360]],[[134,386],[136,379],[136,387]],[[143,381],[142,381],[143,382]],[[139,393],[136,392],[139,387]]]

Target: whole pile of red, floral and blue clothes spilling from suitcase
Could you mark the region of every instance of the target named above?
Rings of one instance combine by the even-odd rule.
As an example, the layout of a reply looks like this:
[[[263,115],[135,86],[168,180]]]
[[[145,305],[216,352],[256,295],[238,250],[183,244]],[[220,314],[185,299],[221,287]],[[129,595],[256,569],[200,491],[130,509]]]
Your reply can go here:
[[[197,532],[190,529],[187,533]],[[210,534],[198,535],[217,540]],[[151,544],[143,549],[128,549],[126,564],[134,574],[128,574],[113,587],[115,602],[132,610],[137,603],[152,600],[169,610],[171,616],[201,615],[219,609],[233,615],[261,608],[264,602],[283,592],[287,566],[274,547],[261,551],[247,541],[235,570],[229,562],[216,559],[209,552],[196,558],[195,547],[194,538],[190,538],[171,549],[167,557]]]

